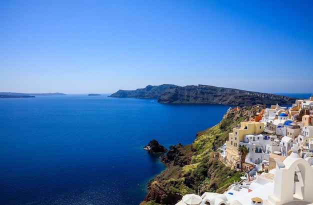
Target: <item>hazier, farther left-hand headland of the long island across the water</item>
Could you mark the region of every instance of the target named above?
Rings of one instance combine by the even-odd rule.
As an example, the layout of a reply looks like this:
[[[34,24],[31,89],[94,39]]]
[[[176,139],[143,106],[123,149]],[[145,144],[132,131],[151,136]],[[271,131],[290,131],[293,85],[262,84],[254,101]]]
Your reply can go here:
[[[147,85],[145,88],[138,88],[136,90],[118,90],[117,92],[109,95],[109,97],[133,97],[145,99],[158,99],[165,89],[176,87],[173,84],[162,85]]]

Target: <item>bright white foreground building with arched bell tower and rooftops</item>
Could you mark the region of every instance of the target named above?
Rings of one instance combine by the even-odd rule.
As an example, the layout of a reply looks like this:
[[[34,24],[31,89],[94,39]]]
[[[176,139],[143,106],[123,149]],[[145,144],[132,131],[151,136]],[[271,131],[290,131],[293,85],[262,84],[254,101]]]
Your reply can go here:
[[[313,157],[303,159],[297,150],[292,147],[283,161],[275,158],[276,168],[258,175],[255,181],[234,183],[222,194],[187,194],[176,205],[313,204]]]

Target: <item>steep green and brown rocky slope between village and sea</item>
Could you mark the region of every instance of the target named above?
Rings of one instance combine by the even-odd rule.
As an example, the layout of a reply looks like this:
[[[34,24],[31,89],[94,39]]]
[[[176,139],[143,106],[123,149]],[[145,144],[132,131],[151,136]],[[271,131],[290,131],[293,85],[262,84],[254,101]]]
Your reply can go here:
[[[184,194],[222,193],[234,180],[239,181],[241,174],[224,165],[217,148],[233,127],[265,107],[229,108],[218,124],[196,133],[192,144],[170,146],[161,157],[165,170],[148,182],[149,191],[140,204],[175,204]]]

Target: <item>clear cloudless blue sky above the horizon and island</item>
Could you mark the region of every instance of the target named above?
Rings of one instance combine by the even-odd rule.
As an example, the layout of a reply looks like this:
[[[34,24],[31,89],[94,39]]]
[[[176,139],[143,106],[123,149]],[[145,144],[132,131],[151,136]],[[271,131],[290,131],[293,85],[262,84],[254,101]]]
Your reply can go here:
[[[313,92],[312,0],[0,0],[0,91]]]

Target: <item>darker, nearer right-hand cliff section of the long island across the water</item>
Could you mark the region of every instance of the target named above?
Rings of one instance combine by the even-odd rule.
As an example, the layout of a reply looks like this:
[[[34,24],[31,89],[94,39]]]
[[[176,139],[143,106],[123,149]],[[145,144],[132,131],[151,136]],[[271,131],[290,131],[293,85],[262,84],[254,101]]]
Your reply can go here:
[[[291,104],[296,98],[210,85],[188,85],[166,89],[158,99],[162,103],[213,103],[249,106],[253,104]]]

